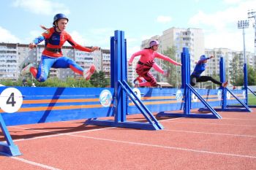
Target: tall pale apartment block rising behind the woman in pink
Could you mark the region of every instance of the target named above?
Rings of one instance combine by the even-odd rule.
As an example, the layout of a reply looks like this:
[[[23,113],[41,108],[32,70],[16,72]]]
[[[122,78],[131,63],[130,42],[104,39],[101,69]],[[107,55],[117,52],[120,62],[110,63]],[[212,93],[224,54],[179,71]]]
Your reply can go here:
[[[205,53],[204,35],[203,30],[200,28],[169,28],[163,31],[162,35],[155,35],[150,39],[143,40],[142,44],[140,45],[141,49],[148,47],[148,44],[152,39],[157,39],[159,41],[159,48],[157,50],[159,53],[164,53],[168,47],[176,47],[176,55],[174,58],[178,62],[181,61],[183,47],[187,47],[189,49],[191,58],[191,70],[195,66],[195,61],[200,58],[200,55]],[[156,62],[159,64],[159,66],[162,66],[161,60],[156,59]],[[151,72],[159,79],[159,81],[165,81],[165,77],[162,77],[162,74],[154,71],[154,69],[151,69]],[[181,67],[177,68],[177,72],[177,74],[181,74]],[[133,74],[135,74],[134,77],[136,77],[137,74],[135,73],[135,69]],[[131,77],[132,76],[128,77],[128,81],[131,81]]]

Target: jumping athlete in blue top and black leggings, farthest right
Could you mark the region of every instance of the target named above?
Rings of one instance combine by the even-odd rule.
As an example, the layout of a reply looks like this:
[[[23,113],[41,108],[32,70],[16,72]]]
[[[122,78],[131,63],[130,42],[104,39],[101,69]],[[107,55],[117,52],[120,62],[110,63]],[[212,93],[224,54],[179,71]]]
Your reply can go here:
[[[227,87],[228,82],[219,82],[218,80],[215,80],[213,77],[210,77],[210,76],[200,76],[203,73],[203,71],[205,71],[206,69],[206,63],[208,59],[211,59],[211,58],[214,58],[214,56],[211,56],[209,58],[206,58],[206,55],[200,56],[200,60],[197,61],[194,72],[192,72],[190,76],[190,85],[194,86],[196,82],[211,81],[217,85],[222,86],[223,88]]]

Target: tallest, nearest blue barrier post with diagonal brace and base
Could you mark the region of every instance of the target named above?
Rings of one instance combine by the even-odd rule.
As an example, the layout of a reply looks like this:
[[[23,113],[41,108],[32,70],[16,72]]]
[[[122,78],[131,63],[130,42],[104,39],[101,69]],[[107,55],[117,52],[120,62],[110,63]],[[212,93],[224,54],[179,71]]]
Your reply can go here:
[[[108,125],[121,128],[140,128],[145,130],[160,130],[163,126],[151,114],[140,99],[133,93],[127,83],[127,56],[126,41],[124,31],[115,31],[115,36],[111,37],[110,45],[110,65],[111,67],[111,88],[115,89],[113,110],[114,120],[89,119],[86,124]],[[127,121],[128,98],[138,107],[146,118],[147,122]]]

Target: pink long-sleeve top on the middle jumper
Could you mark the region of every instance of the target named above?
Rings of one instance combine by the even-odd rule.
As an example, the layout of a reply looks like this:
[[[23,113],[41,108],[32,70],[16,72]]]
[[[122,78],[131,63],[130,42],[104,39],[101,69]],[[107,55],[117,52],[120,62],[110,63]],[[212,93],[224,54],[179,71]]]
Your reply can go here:
[[[165,61],[169,61],[170,63],[178,65],[178,62],[174,61],[173,59],[168,58],[167,56],[157,53],[156,51],[151,49],[140,50],[137,53],[132,54],[131,58],[129,59],[129,62],[132,63],[134,58],[138,55],[140,55],[140,62],[142,63],[146,63],[148,61],[154,61],[154,58],[161,58]]]

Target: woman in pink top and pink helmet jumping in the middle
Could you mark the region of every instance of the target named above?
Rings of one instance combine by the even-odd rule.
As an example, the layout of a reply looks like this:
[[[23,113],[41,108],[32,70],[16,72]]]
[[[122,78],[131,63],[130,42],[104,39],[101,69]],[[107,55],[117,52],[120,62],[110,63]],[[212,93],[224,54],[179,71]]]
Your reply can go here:
[[[138,87],[141,87],[141,86],[156,87],[157,86],[156,78],[153,76],[153,74],[151,74],[151,72],[149,72],[149,70],[152,67],[157,72],[165,74],[165,71],[161,67],[159,67],[157,63],[154,62],[154,58],[161,58],[165,61],[175,64],[176,66],[181,66],[181,63],[178,63],[173,59],[168,58],[165,55],[157,53],[158,45],[159,45],[159,42],[157,42],[157,40],[152,40],[151,42],[149,42],[148,48],[144,48],[143,50],[140,50],[132,54],[132,57],[129,59],[128,64],[129,66],[132,66],[132,61],[134,60],[134,58],[140,55],[140,60],[138,61],[136,66],[136,72],[138,76],[143,77],[146,80],[146,82],[139,82],[138,85],[136,86]]]

